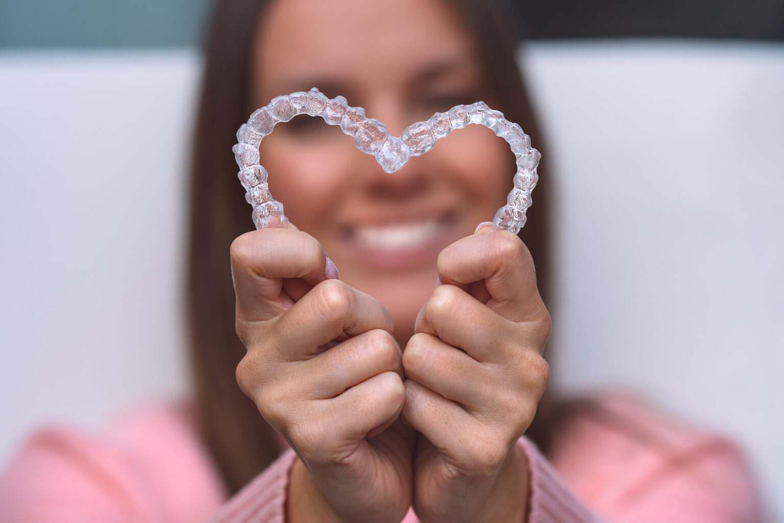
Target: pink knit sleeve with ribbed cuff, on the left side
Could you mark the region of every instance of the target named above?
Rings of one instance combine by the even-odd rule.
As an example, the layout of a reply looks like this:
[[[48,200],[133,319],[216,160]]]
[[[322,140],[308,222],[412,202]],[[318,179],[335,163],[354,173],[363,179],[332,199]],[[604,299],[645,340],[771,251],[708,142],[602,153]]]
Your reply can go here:
[[[284,452],[237,495],[171,409],[141,409],[103,434],[38,430],[0,471],[0,521],[194,523],[285,521]]]

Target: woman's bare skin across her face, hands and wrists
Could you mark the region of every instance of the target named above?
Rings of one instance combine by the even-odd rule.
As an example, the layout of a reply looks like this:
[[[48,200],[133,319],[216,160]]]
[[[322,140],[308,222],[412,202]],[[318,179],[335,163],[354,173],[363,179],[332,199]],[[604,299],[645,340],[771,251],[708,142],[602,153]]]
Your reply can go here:
[[[492,107],[448,5],[380,5],[273,2],[252,105],[317,85],[393,135],[455,104]],[[276,126],[260,147],[270,190],[301,231],[253,231],[231,247],[248,349],[238,383],[299,456],[288,520],[400,521],[413,506],[421,521],[523,521],[528,468],[516,441],[546,387],[550,316],[519,238],[474,233],[510,188],[506,144],[472,125],[389,175],[308,118]],[[437,234],[416,247],[356,237],[428,220]]]

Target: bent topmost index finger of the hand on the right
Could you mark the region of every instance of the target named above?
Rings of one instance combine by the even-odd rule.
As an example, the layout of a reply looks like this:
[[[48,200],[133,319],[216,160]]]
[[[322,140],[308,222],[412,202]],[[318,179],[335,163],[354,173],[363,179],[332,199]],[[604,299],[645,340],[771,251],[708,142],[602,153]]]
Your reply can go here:
[[[485,303],[512,321],[538,318],[544,308],[531,253],[509,231],[481,228],[441,251],[437,260],[441,283],[466,288],[484,281],[490,296]]]

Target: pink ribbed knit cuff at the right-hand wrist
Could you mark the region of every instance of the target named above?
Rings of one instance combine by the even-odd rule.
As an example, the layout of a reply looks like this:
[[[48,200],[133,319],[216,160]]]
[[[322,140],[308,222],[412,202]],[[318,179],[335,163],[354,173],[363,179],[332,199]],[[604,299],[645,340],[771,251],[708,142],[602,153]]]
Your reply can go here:
[[[528,459],[530,494],[527,523],[599,523],[601,521],[577,499],[532,441],[523,437],[517,442]]]

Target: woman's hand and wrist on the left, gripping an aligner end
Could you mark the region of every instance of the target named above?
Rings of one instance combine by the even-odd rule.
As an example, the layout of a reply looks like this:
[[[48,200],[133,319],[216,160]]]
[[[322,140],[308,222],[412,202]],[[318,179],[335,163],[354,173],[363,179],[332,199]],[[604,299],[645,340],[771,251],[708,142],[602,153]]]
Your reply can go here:
[[[231,245],[238,383],[301,461],[287,521],[401,521],[411,504],[414,433],[392,316],[331,279],[309,234],[263,229]],[[315,518],[314,518],[315,516]]]

